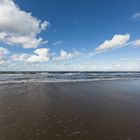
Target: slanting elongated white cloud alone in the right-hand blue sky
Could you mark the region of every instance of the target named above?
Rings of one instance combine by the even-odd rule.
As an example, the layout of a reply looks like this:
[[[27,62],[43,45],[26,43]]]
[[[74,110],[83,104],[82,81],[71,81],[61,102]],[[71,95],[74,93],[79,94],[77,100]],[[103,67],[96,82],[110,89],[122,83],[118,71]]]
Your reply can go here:
[[[111,40],[105,40],[96,51],[103,51],[124,45],[130,39],[130,34],[114,35]]]

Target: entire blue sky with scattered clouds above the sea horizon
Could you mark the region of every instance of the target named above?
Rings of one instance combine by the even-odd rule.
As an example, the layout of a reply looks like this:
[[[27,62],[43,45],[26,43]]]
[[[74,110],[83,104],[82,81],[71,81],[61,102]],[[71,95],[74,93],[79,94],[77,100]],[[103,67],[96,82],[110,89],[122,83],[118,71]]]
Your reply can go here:
[[[140,0],[0,0],[0,71],[139,71]]]

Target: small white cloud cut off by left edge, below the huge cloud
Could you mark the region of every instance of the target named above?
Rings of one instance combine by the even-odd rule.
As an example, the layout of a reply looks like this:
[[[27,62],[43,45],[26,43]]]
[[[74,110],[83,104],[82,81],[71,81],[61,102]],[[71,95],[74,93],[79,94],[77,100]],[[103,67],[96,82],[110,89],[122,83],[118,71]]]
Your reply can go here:
[[[8,63],[5,57],[9,53],[10,52],[6,48],[0,47],[0,65],[6,65]]]

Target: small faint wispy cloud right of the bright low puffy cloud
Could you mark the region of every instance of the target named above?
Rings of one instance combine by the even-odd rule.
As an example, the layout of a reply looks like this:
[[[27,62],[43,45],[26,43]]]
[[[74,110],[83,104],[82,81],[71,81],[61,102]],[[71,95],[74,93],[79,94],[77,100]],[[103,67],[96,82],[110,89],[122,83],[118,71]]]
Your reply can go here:
[[[60,51],[60,55],[56,58],[56,60],[68,60],[73,57],[79,56],[81,53],[80,52],[66,52],[64,50]]]

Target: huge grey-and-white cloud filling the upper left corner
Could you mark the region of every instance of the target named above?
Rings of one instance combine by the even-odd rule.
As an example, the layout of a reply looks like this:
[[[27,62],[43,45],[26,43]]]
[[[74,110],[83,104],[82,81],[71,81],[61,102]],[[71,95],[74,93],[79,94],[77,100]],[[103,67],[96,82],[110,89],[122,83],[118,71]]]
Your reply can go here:
[[[37,35],[49,23],[21,10],[13,0],[0,0],[0,40],[23,48],[36,48],[43,41]]]

